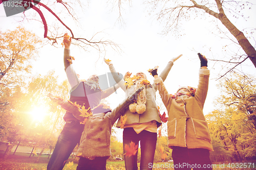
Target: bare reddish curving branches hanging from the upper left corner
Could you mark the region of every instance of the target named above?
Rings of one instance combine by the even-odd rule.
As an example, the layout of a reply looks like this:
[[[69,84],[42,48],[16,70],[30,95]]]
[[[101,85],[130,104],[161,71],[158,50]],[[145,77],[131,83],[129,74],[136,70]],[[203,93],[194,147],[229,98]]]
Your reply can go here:
[[[9,0],[2,0],[0,1],[0,4],[3,3],[4,7],[8,6],[5,3]],[[18,2],[14,3],[15,5],[18,5],[18,9],[13,8],[13,14],[15,14],[15,11],[18,10],[19,12],[23,12],[24,19],[28,19],[26,17],[26,14],[29,11],[32,11],[32,9],[36,12],[37,16],[33,18],[33,20],[41,20],[42,25],[44,26],[44,38],[47,38],[48,40],[52,41],[52,45],[57,43],[57,39],[60,39],[63,37],[63,34],[69,31],[71,34],[72,39],[75,40],[73,43],[75,45],[78,45],[82,47],[84,50],[86,49],[86,46],[89,45],[91,47],[96,48],[97,50],[101,51],[104,50],[104,48],[108,45],[110,45],[114,50],[119,51],[119,46],[111,41],[111,40],[103,40],[103,38],[96,39],[97,34],[96,33],[92,38],[84,38],[84,37],[76,37],[72,31],[72,29],[68,26],[67,23],[65,23],[65,19],[68,17],[72,18],[76,24],[79,24],[79,17],[76,16],[76,12],[78,11],[77,4],[81,8],[81,10],[84,8],[84,5],[79,0],[77,1],[67,1],[64,2],[62,0],[57,1],[48,1],[47,3],[41,3],[40,1],[35,0],[20,0]],[[16,6],[15,6],[16,7]],[[52,9],[51,9],[52,8]],[[9,9],[12,10],[12,9]],[[48,13],[51,15],[49,16]],[[39,18],[38,18],[39,15]],[[51,22],[54,20],[53,22]],[[68,19],[66,19],[68,20]],[[51,25],[49,26],[49,22]],[[68,21],[66,21],[68,22]],[[58,26],[60,24],[61,26]],[[65,28],[65,31],[60,31],[61,28]],[[50,34],[49,34],[50,32]],[[61,32],[61,33],[58,33]]]

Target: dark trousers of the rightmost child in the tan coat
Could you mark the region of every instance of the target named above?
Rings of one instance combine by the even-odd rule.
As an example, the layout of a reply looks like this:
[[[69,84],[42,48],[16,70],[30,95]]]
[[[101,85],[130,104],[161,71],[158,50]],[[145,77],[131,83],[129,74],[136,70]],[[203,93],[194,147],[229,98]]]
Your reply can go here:
[[[174,169],[212,169],[210,153],[207,149],[173,147]]]

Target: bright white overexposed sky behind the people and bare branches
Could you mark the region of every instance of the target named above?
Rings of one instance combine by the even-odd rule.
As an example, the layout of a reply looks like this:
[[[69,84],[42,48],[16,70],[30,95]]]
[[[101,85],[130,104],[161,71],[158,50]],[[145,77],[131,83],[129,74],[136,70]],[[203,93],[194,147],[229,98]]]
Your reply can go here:
[[[41,2],[44,3],[44,1]],[[159,66],[158,72],[160,73],[170,59],[182,54],[183,56],[174,63],[164,82],[168,92],[174,94],[179,86],[197,87],[200,68],[197,53],[205,55],[208,59],[223,58],[227,53],[225,49],[223,50],[223,46],[231,44],[230,40],[220,37],[218,31],[216,31],[215,22],[212,21],[213,17],[208,14],[181,22],[183,32],[180,36],[174,36],[172,33],[162,35],[161,31],[164,24],[157,21],[156,16],[148,15],[148,9],[139,1],[134,1],[131,8],[124,5],[125,10],[122,11],[124,23],[122,25],[116,22],[118,11],[116,9],[111,11],[111,5],[107,5],[106,1],[91,1],[87,3],[82,11],[76,9],[76,15],[80,18],[79,26],[68,15],[63,16],[63,18],[65,17],[63,21],[74,30],[75,37],[80,36],[90,39],[95,33],[104,32],[98,34],[98,38],[114,41],[119,44],[122,52],[117,53],[108,46],[105,53],[99,54],[97,50],[90,46],[87,48],[88,51],[83,51],[71,45],[71,56],[75,57],[74,68],[81,79],[88,79],[92,74],[103,75],[106,72],[110,72],[108,66],[103,62],[103,57],[105,57],[112,60],[114,67],[121,74],[124,75],[126,71],[130,71],[134,75],[138,71],[143,71],[146,73],[148,81],[153,83],[153,77],[146,70]],[[57,6],[58,10],[61,8],[62,6]],[[29,10],[27,12],[26,16],[28,18],[32,16]],[[2,31],[14,30],[18,25],[22,25],[43,38],[44,29],[40,22],[32,20],[29,23],[27,21],[18,22],[18,20],[22,19],[20,16],[22,14],[6,17],[3,4],[1,4],[0,29]],[[256,7],[252,6],[252,10],[245,10],[245,16],[250,16],[250,18],[247,21],[242,18],[233,18],[231,22],[239,30],[249,28],[246,31],[250,31],[251,28],[256,26]],[[50,20],[51,16],[49,15],[48,18]],[[51,22],[48,24],[50,25]],[[223,29],[221,24],[219,24],[219,27],[227,31]],[[68,32],[68,30],[63,29],[63,33],[65,31]],[[183,33],[185,34],[183,35]],[[253,32],[250,35],[252,38],[249,40],[255,46],[253,39],[253,37],[256,37],[255,33]],[[229,50],[236,52],[237,48],[230,47]],[[62,58],[63,47],[60,40],[57,48],[50,44],[42,47],[39,59],[34,62],[33,74],[46,75],[49,70],[55,70],[59,80],[65,80],[66,74]],[[212,102],[218,96],[218,89],[216,88],[218,81],[216,79],[219,77],[220,72],[224,73],[223,67],[225,68],[221,63],[208,61],[210,81],[203,110],[204,114],[215,109]],[[256,69],[249,60],[238,69],[242,69],[248,74],[256,75]],[[115,108],[124,99],[124,96],[124,92],[118,89],[107,101],[112,108]],[[158,103],[160,104],[161,101],[158,100]],[[163,111],[165,111],[164,107],[161,112]]]

